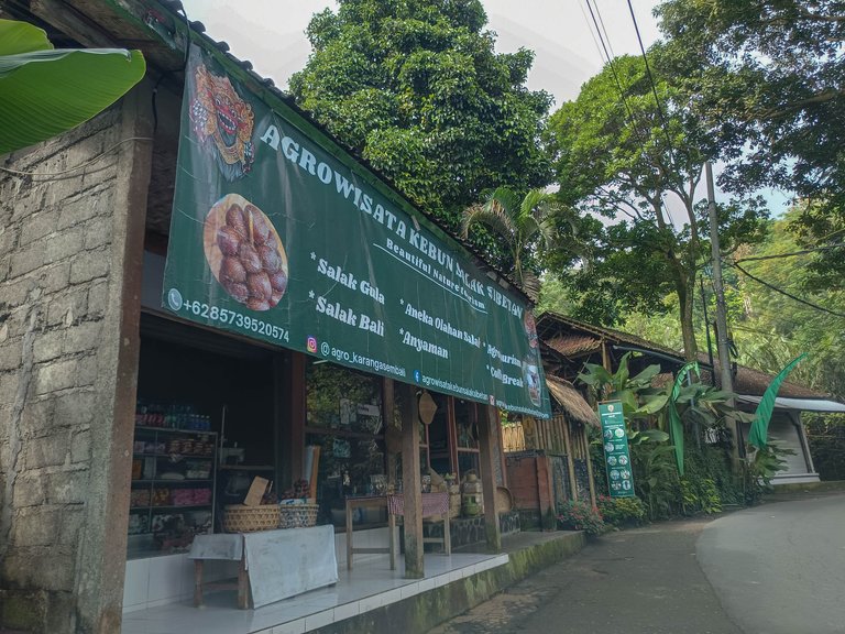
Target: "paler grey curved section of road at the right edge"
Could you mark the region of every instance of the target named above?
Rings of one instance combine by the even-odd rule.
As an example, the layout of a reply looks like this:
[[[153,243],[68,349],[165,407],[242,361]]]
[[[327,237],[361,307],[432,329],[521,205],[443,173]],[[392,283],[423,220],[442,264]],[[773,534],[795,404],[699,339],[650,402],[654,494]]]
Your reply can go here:
[[[706,527],[698,553],[744,633],[845,633],[845,494],[732,513]]]

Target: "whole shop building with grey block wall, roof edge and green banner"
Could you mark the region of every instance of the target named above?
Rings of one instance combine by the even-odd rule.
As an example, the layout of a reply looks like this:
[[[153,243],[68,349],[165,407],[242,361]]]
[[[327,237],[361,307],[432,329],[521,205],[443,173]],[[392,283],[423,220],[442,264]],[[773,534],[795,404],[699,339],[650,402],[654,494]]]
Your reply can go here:
[[[474,474],[495,550],[498,411],[549,414],[528,298],[171,3],[66,4],[15,11],[132,43],[147,77],[4,157],[0,626],[189,605],[194,543],[235,534],[256,478],[257,506],[315,507],[339,570],[350,522],[355,549],[399,524],[419,579],[424,490]],[[348,511],[388,493],[402,520]]]

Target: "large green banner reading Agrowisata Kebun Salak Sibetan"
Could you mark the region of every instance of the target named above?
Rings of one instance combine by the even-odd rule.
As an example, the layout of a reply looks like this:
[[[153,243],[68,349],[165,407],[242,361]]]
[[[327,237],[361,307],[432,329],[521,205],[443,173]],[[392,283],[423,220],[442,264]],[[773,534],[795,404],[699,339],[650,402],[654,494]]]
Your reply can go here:
[[[388,194],[194,46],[163,306],[342,365],[547,417],[525,302]]]

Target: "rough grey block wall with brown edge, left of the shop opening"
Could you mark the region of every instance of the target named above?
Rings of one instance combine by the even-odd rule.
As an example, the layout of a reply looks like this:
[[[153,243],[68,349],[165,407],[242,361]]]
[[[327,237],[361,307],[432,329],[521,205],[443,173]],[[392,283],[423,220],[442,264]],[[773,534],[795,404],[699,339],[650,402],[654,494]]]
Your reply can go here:
[[[150,152],[119,144],[142,135],[135,103],[0,157],[0,631],[120,630],[138,365],[129,211],[141,192],[145,206]]]

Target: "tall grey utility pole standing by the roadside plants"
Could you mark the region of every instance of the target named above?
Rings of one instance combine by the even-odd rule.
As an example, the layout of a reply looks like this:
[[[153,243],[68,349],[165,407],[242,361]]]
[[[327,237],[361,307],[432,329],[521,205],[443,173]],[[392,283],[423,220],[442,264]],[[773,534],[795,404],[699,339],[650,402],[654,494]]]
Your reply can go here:
[[[716,353],[718,354],[718,372],[722,379],[722,390],[734,391],[734,378],[731,374],[731,353],[727,346],[727,307],[725,306],[725,288],[722,285],[722,250],[718,244],[718,219],[716,217],[716,194],[713,186],[713,166],[710,161],[704,163],[704,174],[707,181],[707,215],[710,217],[710,245],[713,258],[713,291],[716,294]],[[715,368],[713,369],[715,371]],[[734,400],[727,404],[733,407]],[[734,473],[739,473],[739,437],[737,422],[728,419],[727,429],[731,434],[731,461]]]

